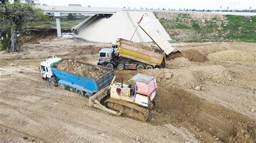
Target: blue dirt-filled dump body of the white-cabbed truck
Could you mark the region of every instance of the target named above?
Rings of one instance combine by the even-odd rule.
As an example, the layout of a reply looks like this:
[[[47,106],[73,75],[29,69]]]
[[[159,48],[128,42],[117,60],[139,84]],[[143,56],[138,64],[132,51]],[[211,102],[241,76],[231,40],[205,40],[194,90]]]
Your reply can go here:
[[[61,61],[59,61],[61,62]],[[91,65],[90,63],[85,63],[78,61],[87,66],[97,67],[95,65]],[[59,70],[55,66],[52,66],[52,73],[58,78],[58,82],[64,85],[68,85],[69,87],[79,89],[85,91],[89,95],[95,94],[97,91],[107,87],[107,85],[111,84],[114,71],[113,69],[105,68],[98,66],[102,70],[107,70],[108,72],[104,74],[102,77],[99,77],[97,80],[94,80],[89,77],[80,76],[76,74],[69,73],[68,71]]]

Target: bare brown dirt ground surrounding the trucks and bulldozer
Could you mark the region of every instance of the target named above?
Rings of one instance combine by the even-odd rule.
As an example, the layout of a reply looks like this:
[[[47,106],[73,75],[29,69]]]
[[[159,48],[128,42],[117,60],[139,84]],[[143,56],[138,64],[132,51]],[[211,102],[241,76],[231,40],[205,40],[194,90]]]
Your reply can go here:
[[[173,45],[183,53],[168,56],[165,69],[139,71],[157,77],[148,123],[89,108],[87,98],[51,87],[38,71],[51,56],[96,64],[110,44],[46,38],[21,53],[0,52],[0,141],[255,142],[256,44]],[[114,71],[117,81],[136,73]]]

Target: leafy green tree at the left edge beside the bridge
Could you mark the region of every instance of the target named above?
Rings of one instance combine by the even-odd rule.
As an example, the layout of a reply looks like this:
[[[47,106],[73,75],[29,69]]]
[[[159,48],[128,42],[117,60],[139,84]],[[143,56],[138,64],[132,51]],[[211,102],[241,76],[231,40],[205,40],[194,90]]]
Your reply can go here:
[[[18,52],[22,42],[18,41],[17,35],[27,32],[26,23],[43,16],[41,9],[35,8],[33,4],[14,2],[5,3],[0,8],[0,16],[8,30],[10,39],[7,41],[6,50],[8,52]]]

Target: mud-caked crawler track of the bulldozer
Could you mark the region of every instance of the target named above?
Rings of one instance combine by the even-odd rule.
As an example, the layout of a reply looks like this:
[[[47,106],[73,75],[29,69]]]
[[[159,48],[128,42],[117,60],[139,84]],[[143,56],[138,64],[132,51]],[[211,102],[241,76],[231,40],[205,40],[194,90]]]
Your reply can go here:
[[[106,99],[104,102],[106,108],[119,111],[123,116],[130,117],[138,120],[147,121],[150,117],[149,110],[144,108],[143,106],[123,101],[121,99]]]

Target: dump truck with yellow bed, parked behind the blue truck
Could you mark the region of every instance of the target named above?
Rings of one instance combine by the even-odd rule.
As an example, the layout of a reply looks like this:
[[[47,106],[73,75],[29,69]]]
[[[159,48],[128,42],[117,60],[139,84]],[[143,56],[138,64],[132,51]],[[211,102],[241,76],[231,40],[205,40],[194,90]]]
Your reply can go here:
[[[125,39],[118,39],[112,48],[99,51],[98,65],[108,68],[152,69],[165,67],[165,53],[158,47],[149,47]]]

